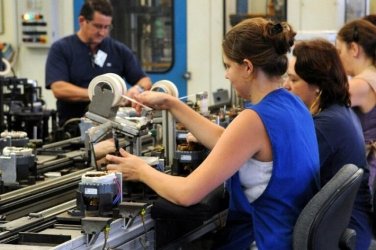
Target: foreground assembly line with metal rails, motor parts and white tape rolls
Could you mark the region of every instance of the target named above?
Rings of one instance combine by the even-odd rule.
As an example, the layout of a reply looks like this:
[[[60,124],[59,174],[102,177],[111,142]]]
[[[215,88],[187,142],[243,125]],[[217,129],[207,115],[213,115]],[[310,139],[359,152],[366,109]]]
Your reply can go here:
[[[3,133],[0,146],[6,153],[0,161],[12,160],[14,164],[8,165],[16,173],[17,169],[34,170],[23,170],[25,176],[9,175],[5,169],[2,172],[3,184],[12,177],[17,188],[3,185],[6,190],[0,194],[0,215],[6,220],[0,224],[1,249],[7,250],[9,244],[38,250],[176,249],[223,227],[227,216],[223,188],[203,204],[182,208],[158,197],[142,183],[123,182],[120,173],[107,173],[106,164],[98,164],[95,146],[110,138],[117,149],[126,148],[166,173],[174,171],[167,163],[169,155],[171,160],[179,157],[187,163],[187,155],[195,157],[193,151],[184,156],[185,151],[180,150],[179,155],[177,139],[182,140],[181,134],[188,131],[176,132],[176,123],[166,111],[144,107],[138,118],[125,115],[124,110],[119,112],[126,93],[120,86],[122,80],[112,74],[93,79],[89,87],[92,102],[86,118],[81,119],[81,137],[30,147],[34,142],[25,133]],[[178,96],[176,87],[168,81],[155,83],[152,91]],[[162,150],[156,144],[161,139],[156,135],[161,132],[156,132],[159,123],[166,143]],[[26,176],[35,176],[35,183],[24,183]],[[189,217],[196,209],[201,215]],[[177,219],[179,216],[183,220]],[[168,234],[171,223],[173,235]]]

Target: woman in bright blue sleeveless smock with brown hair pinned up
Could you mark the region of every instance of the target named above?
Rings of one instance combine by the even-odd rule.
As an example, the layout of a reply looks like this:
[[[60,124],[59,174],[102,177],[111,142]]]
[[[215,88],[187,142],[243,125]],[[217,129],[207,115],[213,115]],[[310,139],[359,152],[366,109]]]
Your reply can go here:
[[[254,105],[226,129],[165,93],[146,91],[135,97],[170,111],[211,149],[190,175],[161,173],[124,150],[122,157],[106,156],[114,163],[108,170],[144,182],[182,206],[198,203],[228,180],[229,218],[217,248],[249,249],[256,241],[258,250],[292,249],[295,222],[319,190],[320,171],[312,117],[298,97],[281,88],[295,34],[286,22],[262,18],[242,21],[227,33],[222,43],[225,77],[238,97]]]

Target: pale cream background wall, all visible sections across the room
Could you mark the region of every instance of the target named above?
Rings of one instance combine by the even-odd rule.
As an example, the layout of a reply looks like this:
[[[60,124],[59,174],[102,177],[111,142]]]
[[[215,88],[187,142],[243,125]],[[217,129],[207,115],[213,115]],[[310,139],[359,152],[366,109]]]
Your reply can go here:
[[[297,30],[338,29],[342,25],[340,20],[343,13],[336,11],[335,7],[343,2],[344,0],[289,0],[287,18]],[[3,13],[0,14],[4,16],[0,42],[10,42],[16,48],[16,1],[2,0],[2,4]],[[235,0],[227,0],[226,7],[227,15],[235,13]],[[61,35],[70,35],[73,33],[73,0],[59,0],[59,8]],[[312,16],[314,11],[320,13],[320,18]],[[370,12],[376,14],[376,1],[374,0],[370,1]],[[222,63],[222,0],[188,0],[187,14],[187,60],[188,71],[192,73],[187,86],[188,95],[208,91],[212,104],[212,92],[218,88],[231,89],[229,81],[224,78],[225,69]],[[227,17],[226,29],[229,28]],[[43,86],[47,107],[55,108],[55,98],[52,92],[44,88],[47,53],[48,49],[21,47],[14,69],[18,77],[37,80],[39,85]]]

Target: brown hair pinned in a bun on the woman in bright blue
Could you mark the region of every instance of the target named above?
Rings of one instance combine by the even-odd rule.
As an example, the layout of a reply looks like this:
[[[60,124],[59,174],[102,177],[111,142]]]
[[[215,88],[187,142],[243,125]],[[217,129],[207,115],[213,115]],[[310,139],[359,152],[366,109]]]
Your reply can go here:
[[[288,66],[286,53],[296,32],[287,22],[252,18],[235,25],[222,42],[223,53],[239,64],[250,60],[269,77],[282,76]]]

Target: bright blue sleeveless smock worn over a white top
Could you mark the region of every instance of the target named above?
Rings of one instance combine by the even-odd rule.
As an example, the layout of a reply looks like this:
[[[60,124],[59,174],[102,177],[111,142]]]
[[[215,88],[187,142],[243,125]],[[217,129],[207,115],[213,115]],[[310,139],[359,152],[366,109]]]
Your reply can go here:
[[[236,172],[227,181],[229,219],[250,215],[253,225],[250,238],[256,240],[258,250],[292,249],[295,222],[320,187],[313,119],[305,104],[282,88],[249,108],[258,113],[269,135],[273,151],[272,176],[265,191],[250,204]],[[226,249],[243,249],[244,242],[249,244],[248,240],[243,238]]]

